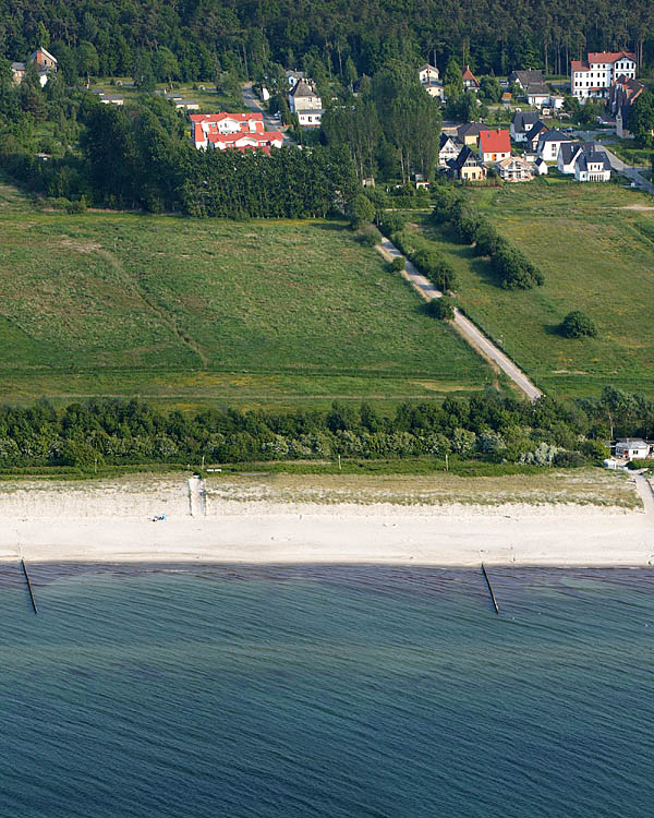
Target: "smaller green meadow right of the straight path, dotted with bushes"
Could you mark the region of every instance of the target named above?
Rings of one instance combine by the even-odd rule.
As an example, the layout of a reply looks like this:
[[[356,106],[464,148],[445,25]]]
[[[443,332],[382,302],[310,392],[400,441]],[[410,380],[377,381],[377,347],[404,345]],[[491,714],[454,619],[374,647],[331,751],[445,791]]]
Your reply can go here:
[[[547,392],[588,395],[615,384],[654,396],[652,199],[615,184],[554,178],[471,195],[546,279],[534,290],[500,289],[485,260],[425,218],[421,228],[457,269],[471,317]],[[593,318],[597,338],[558,334],[573,309]]]

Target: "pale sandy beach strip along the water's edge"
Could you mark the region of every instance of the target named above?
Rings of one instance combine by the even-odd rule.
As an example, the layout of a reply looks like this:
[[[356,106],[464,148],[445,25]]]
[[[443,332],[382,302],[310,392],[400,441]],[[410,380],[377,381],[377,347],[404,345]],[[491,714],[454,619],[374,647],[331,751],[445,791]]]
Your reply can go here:
[[[166,520],[153,520],[164,514]],[[143,479],[3,483],[0,560],[20,556],[33,562],[645,566],[654,564],[654,516],[642,506],[566,503],[229,500],[181,477],[145,484]]]

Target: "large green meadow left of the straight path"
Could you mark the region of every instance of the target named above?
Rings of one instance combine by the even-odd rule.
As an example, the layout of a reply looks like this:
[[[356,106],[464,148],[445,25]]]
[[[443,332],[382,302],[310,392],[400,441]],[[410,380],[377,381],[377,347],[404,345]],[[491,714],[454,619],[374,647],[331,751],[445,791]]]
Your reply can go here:
[[[0,189],[0,399],[379,405],[493,373],[340,224],[28,208]]]

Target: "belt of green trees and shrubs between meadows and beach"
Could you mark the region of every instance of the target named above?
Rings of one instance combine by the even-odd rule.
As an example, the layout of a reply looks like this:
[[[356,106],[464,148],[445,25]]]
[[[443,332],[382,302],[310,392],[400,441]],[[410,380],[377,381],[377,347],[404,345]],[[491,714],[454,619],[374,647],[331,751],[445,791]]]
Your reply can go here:
[[[605,455],[616,435],[654,435],[654,405],[613,387],[564,406],[488,390],[469,399],[402,404],[384,416],[367,404],[274,413],[206,409],[186,417],[138,401],[96,399],[0,408],[0,468],[96,464],[218,462],[446,454],[494,462],[577,466]]]

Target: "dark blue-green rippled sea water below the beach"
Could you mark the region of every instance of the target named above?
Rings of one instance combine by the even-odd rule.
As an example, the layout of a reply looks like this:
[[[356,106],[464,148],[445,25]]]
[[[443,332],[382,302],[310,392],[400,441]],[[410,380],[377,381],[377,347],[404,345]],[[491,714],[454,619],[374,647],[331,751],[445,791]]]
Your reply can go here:
[[[2,818],[652,816],[654,573],[0,572]]]

